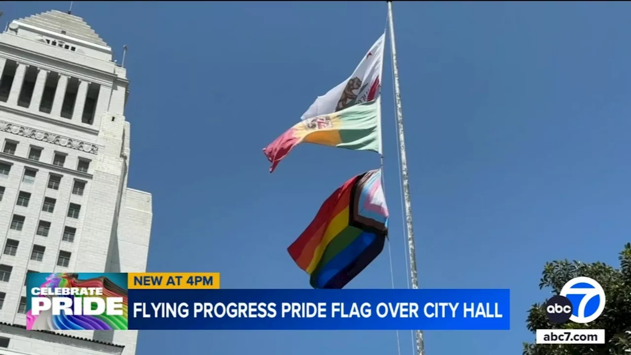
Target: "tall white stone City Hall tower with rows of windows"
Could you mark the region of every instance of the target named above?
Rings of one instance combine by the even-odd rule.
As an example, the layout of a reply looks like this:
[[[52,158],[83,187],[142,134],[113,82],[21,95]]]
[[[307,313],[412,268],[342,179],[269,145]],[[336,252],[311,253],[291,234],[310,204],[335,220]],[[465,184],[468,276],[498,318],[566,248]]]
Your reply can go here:
[[[151,195],[127,188],[126,70],[60,11],[0,34],[0,354],[124,354],[138,332],[25,330],[25,275],[144,272]]]

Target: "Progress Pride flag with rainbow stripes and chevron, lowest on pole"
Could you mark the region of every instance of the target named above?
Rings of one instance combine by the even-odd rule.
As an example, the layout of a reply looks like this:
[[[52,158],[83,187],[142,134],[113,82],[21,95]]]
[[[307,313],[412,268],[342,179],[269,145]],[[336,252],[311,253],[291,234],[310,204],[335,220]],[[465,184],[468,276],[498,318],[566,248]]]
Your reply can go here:
[[[341,289],[381,253],[388,217],[381,171],[365,172],[329,196],[287,250],[314,289]]]

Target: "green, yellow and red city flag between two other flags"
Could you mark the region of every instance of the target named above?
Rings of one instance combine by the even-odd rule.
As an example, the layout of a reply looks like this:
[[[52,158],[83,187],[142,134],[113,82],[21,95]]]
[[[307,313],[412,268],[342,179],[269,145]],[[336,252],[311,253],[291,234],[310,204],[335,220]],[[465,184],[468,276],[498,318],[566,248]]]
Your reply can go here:
[[[332,114],[300,121],[263,149],[272,163],[269,172],[273,172],[293,147],[302,142],[380,152],[380,108],[380,99],[377,97]]]

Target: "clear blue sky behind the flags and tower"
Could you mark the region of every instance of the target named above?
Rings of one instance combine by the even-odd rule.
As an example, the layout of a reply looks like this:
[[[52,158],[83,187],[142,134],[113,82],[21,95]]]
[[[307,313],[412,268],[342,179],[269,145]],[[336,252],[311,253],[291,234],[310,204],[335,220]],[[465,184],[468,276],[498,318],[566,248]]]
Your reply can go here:
[[[6,20],[68,2],[4,4]],[[286,253],[374,153],[261,148],[348,77],[384,2],[75,2],[126,66],[131,187],[153,193],[150,271],[227,288],[307,288]],[[631,219],[628,3],[395,3],[420,285],[510,288],[504,332],[426,332],[428,355],[516,354],[548,260],[617,263]],[[389,50],[387,52],[389,56]],[[386,195],[406,287],[392,76]],[[179,179],[179,181],[177,181]],[[349,287],[390,287],[387,249]],[[404,332],[403,354],[411,353]],[[142,332],[139,355],[396,354],[394,332]]]

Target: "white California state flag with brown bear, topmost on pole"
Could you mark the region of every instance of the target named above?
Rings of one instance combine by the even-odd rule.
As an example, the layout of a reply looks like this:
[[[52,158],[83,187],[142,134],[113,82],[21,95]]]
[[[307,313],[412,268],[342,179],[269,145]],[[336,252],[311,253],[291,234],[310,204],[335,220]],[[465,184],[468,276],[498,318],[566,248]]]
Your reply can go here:
[[[370,50],[353,71],[353,75],[315,99],[315,102],[300,118],[308,119],[323,114],[332,114],[346,107],[376,99],[381,87],[380,77],[385,42],[386,33],[382,34],[377,42],[370,47]]]

